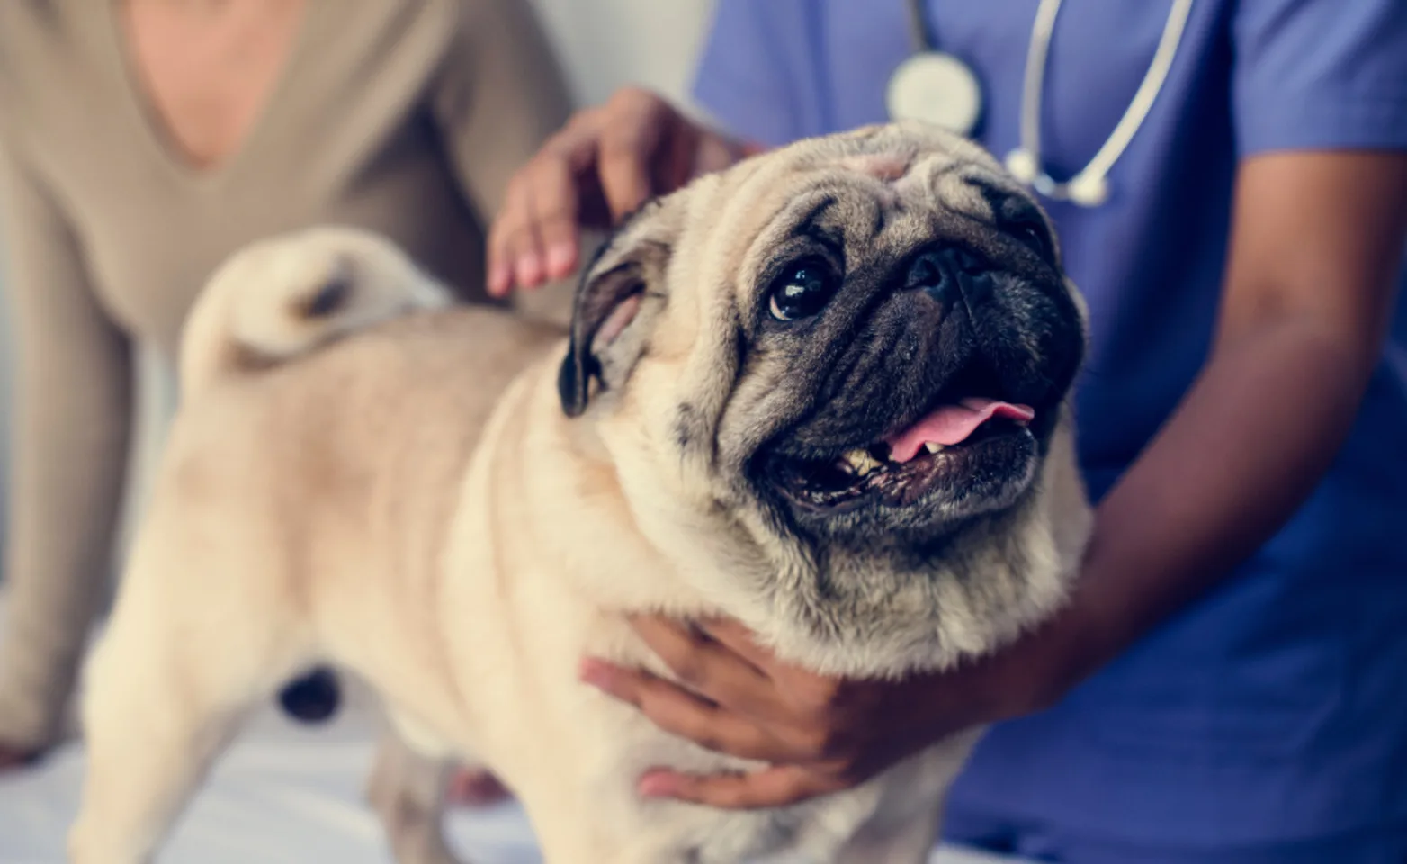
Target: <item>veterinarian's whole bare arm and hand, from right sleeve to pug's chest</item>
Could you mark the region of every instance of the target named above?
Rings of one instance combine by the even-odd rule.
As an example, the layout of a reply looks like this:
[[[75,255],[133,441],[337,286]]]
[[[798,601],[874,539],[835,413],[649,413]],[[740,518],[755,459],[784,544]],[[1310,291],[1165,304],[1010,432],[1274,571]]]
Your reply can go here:
[[[740,808],[854,785],[958,729],[1052,704],[1227,578],[1344,442],[1382,353],[1404,241],[1407,155],[1248,159],[1214,349],[1099,508],[1068,612],[981,663],[899,684],[788,667],[730,623],[642,621],[692,694],[597,661],[582,677],[667,730],[775,764],[705,778],[656,771],[642,791]]]

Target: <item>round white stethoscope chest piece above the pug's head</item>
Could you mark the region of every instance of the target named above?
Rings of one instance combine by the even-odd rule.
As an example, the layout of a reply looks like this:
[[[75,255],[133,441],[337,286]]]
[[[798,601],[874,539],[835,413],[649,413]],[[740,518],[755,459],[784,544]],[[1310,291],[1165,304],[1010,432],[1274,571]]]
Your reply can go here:
[[[885,101],[893,120],[920,121],[971,135],[982,114],[982,87],[962,61],[941,51],[924,51],[895,69]]]

